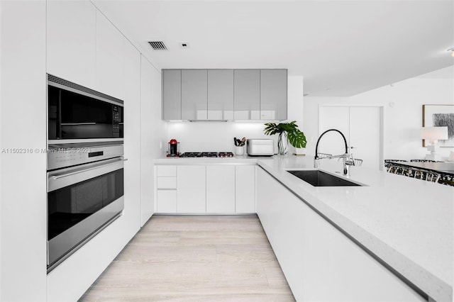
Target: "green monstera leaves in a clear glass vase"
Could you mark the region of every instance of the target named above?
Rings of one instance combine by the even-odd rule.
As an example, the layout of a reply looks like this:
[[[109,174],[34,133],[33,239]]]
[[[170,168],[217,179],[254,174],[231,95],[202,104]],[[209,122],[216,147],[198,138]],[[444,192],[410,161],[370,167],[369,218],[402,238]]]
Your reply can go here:
[[[306,136],[301,130],[298,129],[297,121],[290,123],[265,123],[265,134],[275,135],[277,137],[277,152],[279,155],[285,155],[287,153],[287,146],[290,145],[296,148],[306,147]]]

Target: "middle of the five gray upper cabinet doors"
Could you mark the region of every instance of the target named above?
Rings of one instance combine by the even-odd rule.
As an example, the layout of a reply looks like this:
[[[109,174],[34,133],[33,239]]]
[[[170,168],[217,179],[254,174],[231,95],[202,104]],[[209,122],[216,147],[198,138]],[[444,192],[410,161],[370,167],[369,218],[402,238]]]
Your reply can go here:
[[[233,70],[208,70],[208,119],[233,120]]]

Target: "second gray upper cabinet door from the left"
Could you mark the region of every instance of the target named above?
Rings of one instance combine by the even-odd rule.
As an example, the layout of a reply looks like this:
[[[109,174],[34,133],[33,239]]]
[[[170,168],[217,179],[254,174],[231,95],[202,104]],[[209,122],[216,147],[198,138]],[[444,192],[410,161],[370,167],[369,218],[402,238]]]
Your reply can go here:
[[[207,70],[182,70],[182,119],[203,121],[207,111]]]

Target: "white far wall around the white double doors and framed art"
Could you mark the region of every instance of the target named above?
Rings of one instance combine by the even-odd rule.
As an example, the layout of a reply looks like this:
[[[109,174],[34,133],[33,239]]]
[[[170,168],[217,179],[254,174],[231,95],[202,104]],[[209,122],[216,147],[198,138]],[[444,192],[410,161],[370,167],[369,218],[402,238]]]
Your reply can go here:
[[[318,137],[319,105],[384,106],[384,159],[422,159],[419,133],[422,126],[423,104],[454,105],[454,67],[439,69],[419,77],[351,97],[304,98],[304,133],[309,137],[308,152],[313,154]],[[441,148],[448,157],[453,148]]]

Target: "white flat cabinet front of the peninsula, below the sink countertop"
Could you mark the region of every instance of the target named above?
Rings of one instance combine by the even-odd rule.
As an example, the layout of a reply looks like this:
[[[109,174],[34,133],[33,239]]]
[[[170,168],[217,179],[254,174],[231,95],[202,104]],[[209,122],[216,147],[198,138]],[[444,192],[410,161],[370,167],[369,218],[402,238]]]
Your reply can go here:
[[[297,301],[426,301],[263,169],[257,213]]]

